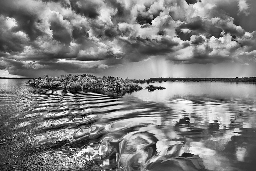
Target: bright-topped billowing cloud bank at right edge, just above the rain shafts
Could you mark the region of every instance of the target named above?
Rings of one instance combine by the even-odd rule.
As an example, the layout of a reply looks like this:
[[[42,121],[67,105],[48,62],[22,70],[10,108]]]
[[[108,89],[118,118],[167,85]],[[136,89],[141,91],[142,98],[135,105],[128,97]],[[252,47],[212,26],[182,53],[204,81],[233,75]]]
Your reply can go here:
[[[250,37],[250,38],[249,38]],[[169,60],[179,63],[221,63],[255,62],[255,32],[246,32],[243,37],[234,41],[232,35],[221,32],[221,37],[214,36],[209,39],[204,35],[191,36],[191,41],[186,41],[184,49],[176,51],[176,55],[168,57]],[[190,42],[190,43],[189,43]],[[245,43],[246,42],[246,43]],[[189,45],[187,45],[189,43]],[[247,44],[248,43],[248,44]],[[184,43],[183,43],[184,44]],[[245,52],[244,52],[245,51]]]

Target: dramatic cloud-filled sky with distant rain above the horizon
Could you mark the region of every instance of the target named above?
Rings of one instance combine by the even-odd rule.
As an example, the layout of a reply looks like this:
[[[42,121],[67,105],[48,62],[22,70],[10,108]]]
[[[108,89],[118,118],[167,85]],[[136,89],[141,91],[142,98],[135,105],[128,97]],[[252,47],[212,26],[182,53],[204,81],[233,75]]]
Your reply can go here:
[[[1,0],[0,77],[255,77],[255,0]]]

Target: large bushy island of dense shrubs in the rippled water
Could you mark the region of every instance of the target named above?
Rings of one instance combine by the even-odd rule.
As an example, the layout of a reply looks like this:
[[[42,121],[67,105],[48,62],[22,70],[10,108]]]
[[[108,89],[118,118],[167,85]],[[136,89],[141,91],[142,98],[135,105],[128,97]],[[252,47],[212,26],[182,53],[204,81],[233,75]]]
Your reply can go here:
[[[64,89],[94,89],[94,90],[140,90],[140,85],[126,78],[125,80],[118,77],[98,77],[91,74],[80,75],[61,75],[60,77],[49,77],[44,75],[43,78],[34,78],[28,81],[28,85],[34,87],[51,87]]]

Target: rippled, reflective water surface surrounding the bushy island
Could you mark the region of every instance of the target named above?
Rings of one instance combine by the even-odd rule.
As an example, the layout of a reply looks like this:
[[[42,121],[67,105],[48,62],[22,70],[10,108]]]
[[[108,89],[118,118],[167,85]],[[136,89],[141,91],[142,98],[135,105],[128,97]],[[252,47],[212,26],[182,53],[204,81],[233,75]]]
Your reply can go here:
[[[111,97],[27,81],[0,80],[0,170],[255,170],[255,84]]]

